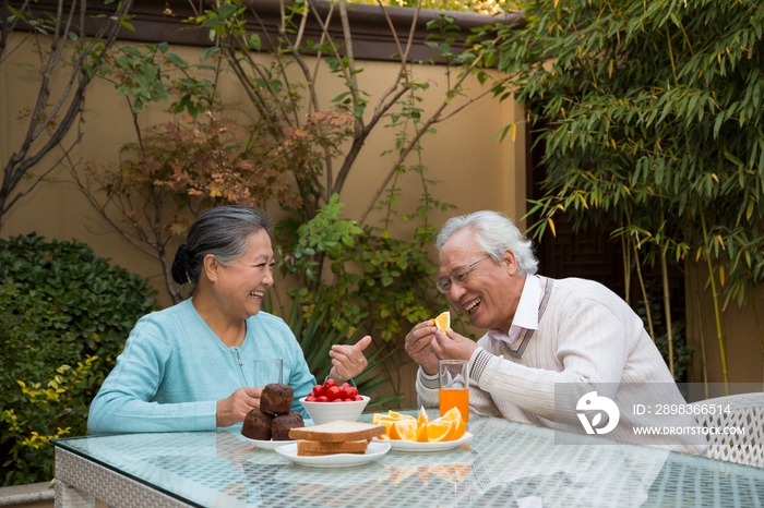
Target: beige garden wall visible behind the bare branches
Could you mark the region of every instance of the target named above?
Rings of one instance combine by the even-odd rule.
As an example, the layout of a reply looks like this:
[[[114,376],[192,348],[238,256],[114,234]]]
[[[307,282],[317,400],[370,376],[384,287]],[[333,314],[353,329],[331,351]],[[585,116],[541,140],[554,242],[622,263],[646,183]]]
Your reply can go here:
[[[17,120],[19,112],[22,107],[33,104],[38,88],[36,76],[20,66],[24,63],[35,63],[31,52],[31,40],[22,34],[12,34],[9,48],[15,47],[15,51],[5,52],[8,61],[3,63],[0,73],[0,160],[3,162],[17,150],[23,140],[26,125],[23,120]],[[190,62],[201,55],[199,48],[172,47],[171,50]],[[393,75],[398,68],[396,64],[379,61],[360,62],[360,66],[363,68],[363,72],[359,74],[360,88],[370,94],[371,111],[380,94],[392,85]],[[415,77],[430,84],[430,89],[421,93],[425,100],[420,106],[426,110],[426,116],[440,106],[447,89],[445,71],[444,66],[413,66]],[[337,78],[329,73],[321,74],[319,85],[322,107],[327,107],[331,98],[342,92]],[[485,90],[476,80],[468,80],[465,88],[466,98],[456,98],[446,113],[464,100],[477,97]],[[246,102],[243,92],[232,78],[223,83],[222,95],[229,102]],[[142,113],[142,125],[155,124],[167,119],[167,114],[162,111],[164,107],[153,105]],[[440,181],[431,189],[434,196],[456,205],[457,214],[491,208],[503,210],[520,219],[525,210],[523,128],[517,131],[516,142],[510,137],[503,143],[490,138],[506,123],[522,118],[522,111],[515,108],[511,100],[498,102],[491,96],[485,96],[456,116],[434,125],[438,132],[422,140],[422,164],[428,168],[426,177]],[[394,134],[391,129],[384,129],[383,123],[385,122],[381,122],[368,138],[341,195],[341,201],[347,205],[346,217],[356,218],[366,209],[372,193],[382,184],[394,162],[392,154],[380,156],[383,150],[392,147]],[[97,80],[88,88],[84,123],[80,129],[83,141],[70,154],[70,160],[79,168],[87,165],[116,165],[119,162],[120,146],[136,140],[127,100],[115,90],[112,84],[103,80]],[[73,135],[74,133],[71,133],[70,138]],[[50,160],[52,156],[48,157],[46,164],[50,164]],[[415,155],[410,156],[406,164],[416,164]],[[44,167],[39,165],[35,172],[41,171]],[[39,184],[5,215],[0,237],[8,238],[35,231],[48,241],[76,239],[85,242],[97,255],[111,258],[112,264],[148,278],[152,286],[159,291],[160,305],[169,305],[171,300],[165,290],[159,265],[132,247],[99,220],[76,189],[65,183],[70,180],[65,168],[57,168],[51,177],[58,181]],[[405,190],[399,210],[414,211],[421,189],[418,176],[414,172],[403,174],[398,185]],[[23,186],[24,184],[20,188]],[[271,211],[276,211],[277,215],[277,207],[272,206]],[[440,226],[452,214],[453,211],[438,211],[432,215],[431,220]],[[377,225],[379,219],[380,215],[372,213],[367,223]],[[414,227],[410,223],[397,222],[392,232],[399,238],[410,238]],[[169,252],[174,253],[179,243],[180,239]],[[282,295],[280,300],[286,301],[283,288],[278,292]],[[408,358],[402,355],[399,360],[406,362]],[[396,388],[409,392],[409,404],[416,403],[410,396],[414,391],[413,368],[410,363],[404,366],[401,370],[402,377],[396,382],[399,384]]]

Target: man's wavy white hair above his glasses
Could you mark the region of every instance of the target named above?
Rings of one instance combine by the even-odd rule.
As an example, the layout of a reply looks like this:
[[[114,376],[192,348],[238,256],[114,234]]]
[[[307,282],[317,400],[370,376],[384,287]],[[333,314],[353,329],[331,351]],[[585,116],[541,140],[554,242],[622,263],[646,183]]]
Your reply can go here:
[[[499,211],[475,211],[449,219],[435,239],[438,250],[443,247],[452,234],[464,228],[475,232],[478,245],[491,256],[493,263],[501,262],[504,258],[504,249],[509,249],[515,255],[521,275],[535,275],[538,271],[533,242],[520,232],[512,219]]]

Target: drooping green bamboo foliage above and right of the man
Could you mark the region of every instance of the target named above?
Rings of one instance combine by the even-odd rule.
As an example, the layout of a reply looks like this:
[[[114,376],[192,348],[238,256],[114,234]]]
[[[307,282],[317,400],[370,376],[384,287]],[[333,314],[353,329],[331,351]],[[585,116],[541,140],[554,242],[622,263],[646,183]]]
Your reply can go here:
[[[654,255],[713,261],[728,301],[744,302],[764,280],[761,3],[549,0],[527,12],[524,29],[503,29],[499,66],[547,125],[538,233],[561,210],[613,221]]]

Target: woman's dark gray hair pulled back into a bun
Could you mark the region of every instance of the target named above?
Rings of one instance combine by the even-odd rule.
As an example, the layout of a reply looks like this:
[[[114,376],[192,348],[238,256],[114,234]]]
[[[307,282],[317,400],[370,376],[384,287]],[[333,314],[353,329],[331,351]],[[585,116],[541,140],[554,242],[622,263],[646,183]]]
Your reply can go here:
[[[244,255],[247,239],[261,229],[273,237],[267,215],[249,206],[218,206],[205,211],[191,225],[186,243],[178,249],[172,278],[178,283],[199,285],[202,263],[207,254],[228,266]]]

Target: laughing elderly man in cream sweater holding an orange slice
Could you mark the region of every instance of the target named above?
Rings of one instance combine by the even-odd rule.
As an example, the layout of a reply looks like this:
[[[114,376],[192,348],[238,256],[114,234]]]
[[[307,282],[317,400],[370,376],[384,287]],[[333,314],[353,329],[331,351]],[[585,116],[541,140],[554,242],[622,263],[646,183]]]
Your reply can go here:
[[[617,294],[589,280],[536,275],[530,241],[496,211],[450,219],[437,246],[437,288],[488,332],[475,342],[451,329],[446,335],[431,320],[409,331],[406,351],[419,364],[420,403],[438,404],[439,359],[463,359],[469,361],[470,409],[478,414],[583,433],[575,401],[598,391],[596,399],[620,399],[618,425],[604,437],[705,452],[706,439],[690,415],[669,421],[634,414],[636,403],[684,400],[642,319]],[[682,428],[652,437],[634,431],[661,423]]]

